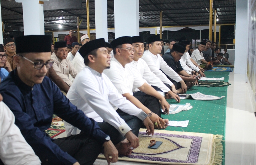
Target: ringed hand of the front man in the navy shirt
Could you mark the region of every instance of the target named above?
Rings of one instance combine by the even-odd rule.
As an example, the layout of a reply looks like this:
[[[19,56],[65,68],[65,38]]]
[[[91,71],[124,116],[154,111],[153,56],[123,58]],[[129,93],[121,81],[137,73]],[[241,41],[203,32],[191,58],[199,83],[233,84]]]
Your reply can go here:
[[[108,165],[110,165],[110,163],[116,163],[118,160],[118,151],[114,146],[114,144],[111,142],[111,140],[105,142],[103,144],[103,147],[104,147],[104,156],[107,159]]]

